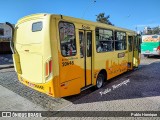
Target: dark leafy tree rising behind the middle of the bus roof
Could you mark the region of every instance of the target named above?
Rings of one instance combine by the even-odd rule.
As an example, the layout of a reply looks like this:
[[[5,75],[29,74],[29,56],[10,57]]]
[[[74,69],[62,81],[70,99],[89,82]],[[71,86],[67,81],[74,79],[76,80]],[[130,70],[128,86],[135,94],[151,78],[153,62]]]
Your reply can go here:
[[[105,13],[99,13],[97,15],[97,22],[101,22],[101,23],[105,23],[105,24],[108,24],[108,25],[113,25],[110,20],[109,20],[110,16],[107,15],[105,16]]]

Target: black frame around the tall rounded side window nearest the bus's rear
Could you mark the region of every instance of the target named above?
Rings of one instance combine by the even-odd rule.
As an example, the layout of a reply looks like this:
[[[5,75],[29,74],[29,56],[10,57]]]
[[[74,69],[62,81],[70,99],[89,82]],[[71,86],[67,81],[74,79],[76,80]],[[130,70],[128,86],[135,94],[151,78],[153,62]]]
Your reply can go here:
[[[60,39],[61,36],[60,36],[60,28],[59,28],[60,23],[69,23],[69,24],[72,24],[72,25],[74,26],[75,50],[76,50],[75,55],[66,55],[66,56],[64,56],[64,55],[62,54],[62,43],[61,43],[61,39]],[[77,55],[77,41],[76,41],[76,27],[75,27],[75,24],[72,23],[72,22],[68,22],[68,21],[59,21],[59,22],[58,22],[58,31],[59,31],[59,42],[60,42],[60,51],[61,51],[61,55],[62,55],[63,57],[72,57],[72,56],[76,56],[76,55]]]

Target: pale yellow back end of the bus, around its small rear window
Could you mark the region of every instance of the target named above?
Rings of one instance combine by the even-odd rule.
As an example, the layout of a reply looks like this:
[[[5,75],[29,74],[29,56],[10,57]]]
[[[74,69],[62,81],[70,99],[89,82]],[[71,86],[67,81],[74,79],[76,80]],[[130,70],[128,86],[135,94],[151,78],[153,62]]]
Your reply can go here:
[[[54,71],[54,76],[52,73],[46,76],[46,62],[52,61],[50,19],[50,15],[42,14],[19,20],[14,40],[16,53],[13,56],[16,56],[14,63],[18,67],[15,69],[20,71],[17,72],[18,78],[23,84],[46,94],[59,96],[58,73]],[[32,31],[33,24],[38,22],[42,22],[42,30]],[[54,42],[55,38],[52,38]],[[53,68],[58,68],[57,59],[58,55],[55,55]]]

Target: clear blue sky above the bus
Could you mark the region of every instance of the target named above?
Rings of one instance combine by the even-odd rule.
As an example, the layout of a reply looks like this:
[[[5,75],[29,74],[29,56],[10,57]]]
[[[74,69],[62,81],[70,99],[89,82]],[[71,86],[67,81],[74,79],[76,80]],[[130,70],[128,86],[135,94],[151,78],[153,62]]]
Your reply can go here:
[[[1,0],[0,6],[0,23],[16,24],[20,18],[35,13],[96,21],[96,15],[104,12],[122,28],[140,31],[160,25],[160,0]]]

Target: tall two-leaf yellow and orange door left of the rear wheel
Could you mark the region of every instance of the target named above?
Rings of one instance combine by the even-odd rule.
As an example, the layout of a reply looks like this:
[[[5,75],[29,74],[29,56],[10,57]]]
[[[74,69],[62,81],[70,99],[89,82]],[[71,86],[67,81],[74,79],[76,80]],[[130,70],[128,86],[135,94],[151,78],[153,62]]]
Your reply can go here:
[[[81,67],[84,70],[82,75],[82,87],[89,87],[92,83],[92,32],[79,31],[80,44],[80,61]]]

